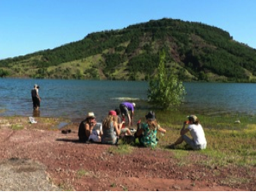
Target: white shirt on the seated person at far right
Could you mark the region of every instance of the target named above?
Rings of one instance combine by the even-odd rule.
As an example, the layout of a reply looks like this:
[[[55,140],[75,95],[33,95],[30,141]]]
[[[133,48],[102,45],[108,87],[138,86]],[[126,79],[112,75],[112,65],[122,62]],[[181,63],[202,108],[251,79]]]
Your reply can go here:
[[[195,144],[207,144],[202,125],[189,125],[188,129]]]

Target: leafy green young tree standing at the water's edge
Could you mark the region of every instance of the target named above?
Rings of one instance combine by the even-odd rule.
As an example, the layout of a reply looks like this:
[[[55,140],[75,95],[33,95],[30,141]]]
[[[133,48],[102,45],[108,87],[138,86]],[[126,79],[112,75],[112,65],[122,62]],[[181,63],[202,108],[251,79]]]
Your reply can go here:
[[[148,99],[155,106],[163,109],[179,106],[185,95],[185,88],[182,81],[178,80],[176,74],[165,67],[165,52],[160,53],[157,75],[150,80]]]

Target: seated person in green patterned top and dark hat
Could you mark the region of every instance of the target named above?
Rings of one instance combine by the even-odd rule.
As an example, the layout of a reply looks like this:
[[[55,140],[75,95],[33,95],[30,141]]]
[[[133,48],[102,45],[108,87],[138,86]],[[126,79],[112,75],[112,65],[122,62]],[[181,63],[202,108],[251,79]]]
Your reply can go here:
[[[145,118],[147,119],[146,123],[141,124],[141,121],[138,121],[138,130],[134,134],[134,138],[135,141],[138,138],[139,143],[143,146],[155,148],[158,143],[157,131],[166,133],[166,130],[157,124],[155,112],[149,112]]]

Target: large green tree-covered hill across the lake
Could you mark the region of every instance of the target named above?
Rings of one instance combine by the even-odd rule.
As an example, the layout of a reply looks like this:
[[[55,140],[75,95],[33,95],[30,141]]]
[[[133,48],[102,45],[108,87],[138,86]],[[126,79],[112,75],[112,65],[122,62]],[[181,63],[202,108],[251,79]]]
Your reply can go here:
[[[200,22],[161,19],[0,61],[0,76],[148,80],[159,51],[181,80],[256,81],[256,50]]]

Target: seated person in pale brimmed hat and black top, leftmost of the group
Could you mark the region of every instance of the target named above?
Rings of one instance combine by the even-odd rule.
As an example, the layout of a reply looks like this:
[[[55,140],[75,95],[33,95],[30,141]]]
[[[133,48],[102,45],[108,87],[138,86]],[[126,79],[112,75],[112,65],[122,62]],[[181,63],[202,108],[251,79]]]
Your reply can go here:
[[[86,119],[80,123],[78,137],[80,142],[101,142],[102,131],[97,128],[96,117],[93,112],[88,112]]]

